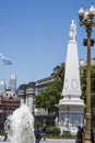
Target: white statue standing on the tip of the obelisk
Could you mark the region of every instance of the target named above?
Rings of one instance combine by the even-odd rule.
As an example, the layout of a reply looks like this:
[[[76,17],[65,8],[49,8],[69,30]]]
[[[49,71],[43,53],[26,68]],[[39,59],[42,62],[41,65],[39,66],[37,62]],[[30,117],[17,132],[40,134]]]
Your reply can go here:
[[[74,23],[74,20],[72,20],[72,23],[71,23],[71,26],[70,26],[70,33],[69,33],[69,40],[70,41],[72,41],[72,40],[75,41],[75,36],[76,36],[76,25]]]

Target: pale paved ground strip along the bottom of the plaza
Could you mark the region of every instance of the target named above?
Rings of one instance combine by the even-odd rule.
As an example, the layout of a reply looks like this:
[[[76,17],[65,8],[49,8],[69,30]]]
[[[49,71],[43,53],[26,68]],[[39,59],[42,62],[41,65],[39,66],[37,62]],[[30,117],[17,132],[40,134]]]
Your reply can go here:
[[[3,136],[0,136],[0,143],[11,143],[9,139],[3,142]],[[75,143],[74,140],[54,140],[54,139],[47,139],[46,141],[40,141],[40,143]]]

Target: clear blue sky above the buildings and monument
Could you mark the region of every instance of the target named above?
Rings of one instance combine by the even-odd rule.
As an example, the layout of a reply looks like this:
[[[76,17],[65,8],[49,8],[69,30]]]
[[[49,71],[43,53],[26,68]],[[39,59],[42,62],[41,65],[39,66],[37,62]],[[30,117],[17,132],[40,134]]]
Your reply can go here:
[[[72,19],[78,29],[79,58],[86,59],[86,33],[79,24],[79,9],[92,3],[94,0],[0,0],[0,53],[12,61],[7,66],[0,59],[0,79],[9,85],[10,75],[15,74],[19,86],[48,77],[54,67],[66,62]]]

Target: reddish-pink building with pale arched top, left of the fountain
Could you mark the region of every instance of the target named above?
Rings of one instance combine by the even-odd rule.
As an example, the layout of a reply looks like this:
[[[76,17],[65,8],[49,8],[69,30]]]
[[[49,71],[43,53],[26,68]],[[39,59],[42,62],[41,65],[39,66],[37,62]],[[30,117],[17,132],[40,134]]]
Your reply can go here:
[[[0,132],[4,132],[4,121],[19,108],[21,100],[15,98],[14,94],[7,91],[4,97],[0,97]]]

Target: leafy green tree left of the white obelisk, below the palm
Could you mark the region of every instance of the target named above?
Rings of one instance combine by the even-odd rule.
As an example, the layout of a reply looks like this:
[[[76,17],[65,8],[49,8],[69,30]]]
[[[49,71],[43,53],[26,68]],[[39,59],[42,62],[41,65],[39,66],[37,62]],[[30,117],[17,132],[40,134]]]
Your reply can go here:
[[[45,109],[48,113],[58,112],[58,108],[55,106],[61,98],[61,80],[55,79],[45,91],[35,97],[35,107],[38,109]]]

